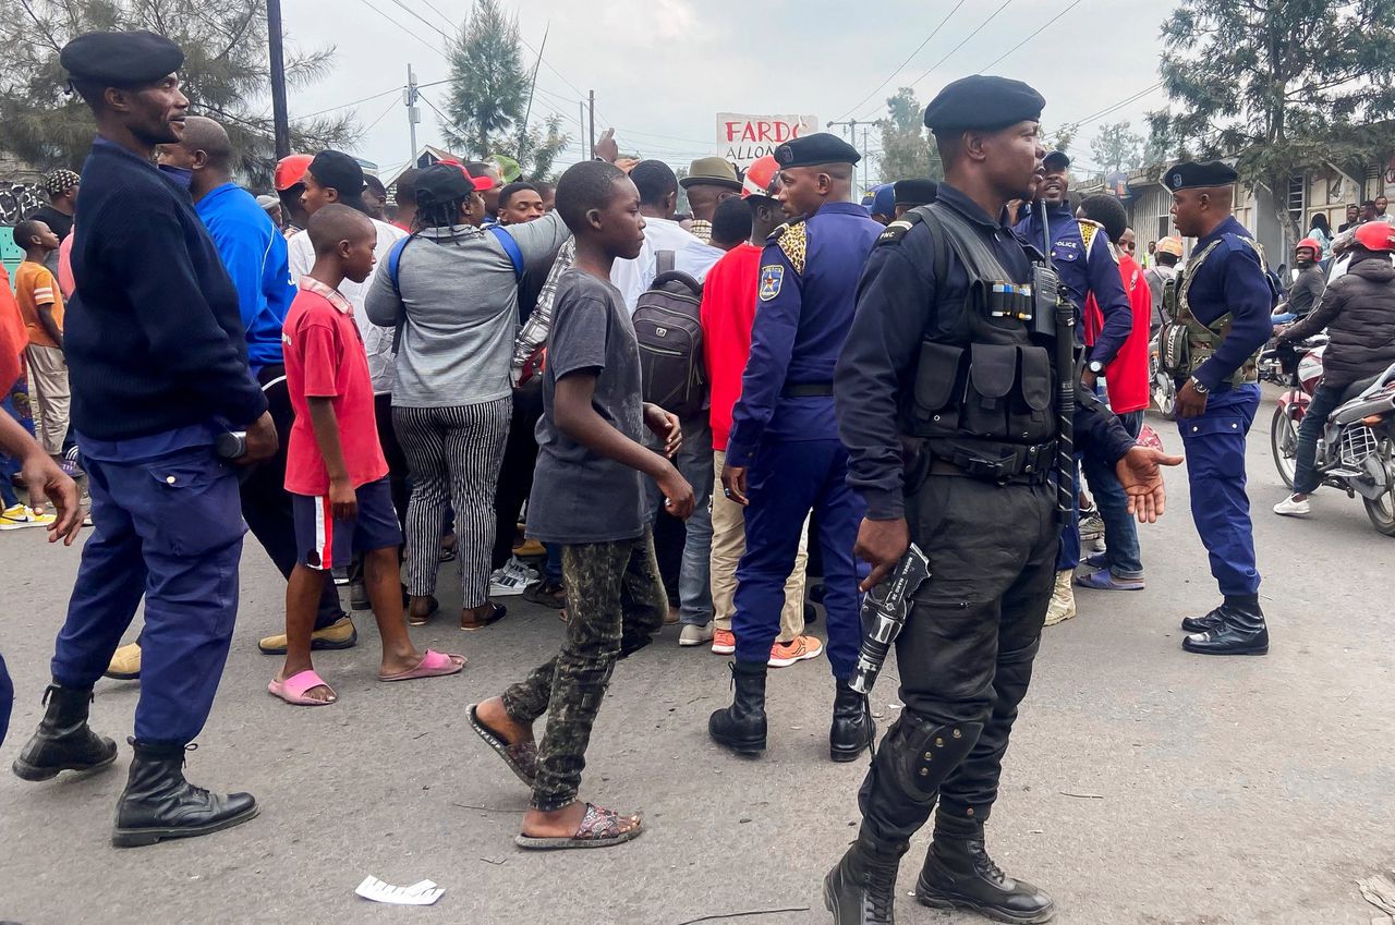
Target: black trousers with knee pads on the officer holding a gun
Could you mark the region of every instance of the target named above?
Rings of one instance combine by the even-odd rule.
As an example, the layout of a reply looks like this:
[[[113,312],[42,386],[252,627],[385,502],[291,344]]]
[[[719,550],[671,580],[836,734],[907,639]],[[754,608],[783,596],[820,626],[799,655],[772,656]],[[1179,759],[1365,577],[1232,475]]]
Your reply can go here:
[[[1050,486],[930,476],[908,498],[930,579],[896,643],[905,709],[862,784],[862,836],[904,845],[940,816],[988,819],[1056,578]],[[904,848],[903,848],[904,850]]]

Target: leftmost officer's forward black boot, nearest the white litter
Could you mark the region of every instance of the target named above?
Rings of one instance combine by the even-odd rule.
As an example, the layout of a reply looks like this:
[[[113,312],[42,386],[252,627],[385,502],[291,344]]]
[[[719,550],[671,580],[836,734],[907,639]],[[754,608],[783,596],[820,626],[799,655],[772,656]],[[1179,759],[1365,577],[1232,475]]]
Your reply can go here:
[[[211,794],[184,780],[184,746],[131,739],[131,776],[116,805],[112,844],[117,848],[191,838],[230,829],[257,815],[251,794]]]

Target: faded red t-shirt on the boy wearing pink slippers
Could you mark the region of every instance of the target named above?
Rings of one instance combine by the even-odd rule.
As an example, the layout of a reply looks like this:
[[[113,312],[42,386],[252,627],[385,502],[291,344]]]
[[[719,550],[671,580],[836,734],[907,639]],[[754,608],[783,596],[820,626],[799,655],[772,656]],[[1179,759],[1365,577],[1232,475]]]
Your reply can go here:
[[[329,492],[329,470],[310,421],[310,399],[333,399],[339,444],[354,488],[388,474],[372,407],[368,354],[353,319],[353,306],[336,289],[306,276],[282,328],[286,386],[296,423],[286,448],[286,491]]]

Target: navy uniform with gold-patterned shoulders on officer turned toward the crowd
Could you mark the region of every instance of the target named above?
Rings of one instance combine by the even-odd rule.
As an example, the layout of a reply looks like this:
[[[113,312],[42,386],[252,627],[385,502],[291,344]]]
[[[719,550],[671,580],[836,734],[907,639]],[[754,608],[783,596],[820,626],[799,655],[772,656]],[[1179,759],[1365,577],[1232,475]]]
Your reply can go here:
[[[746,552],[737,568],[737,661],[764,664],[780,635],[784,583],[812,509],[823,551],[829,663],[847,679],[861,643],[852,561],[861,498],[833,410],[833,370],[852,324],[858,276],[883,230],[831,202],[771,236],[760,260],[751,359],[732,410],[727,465],[745,466]]]

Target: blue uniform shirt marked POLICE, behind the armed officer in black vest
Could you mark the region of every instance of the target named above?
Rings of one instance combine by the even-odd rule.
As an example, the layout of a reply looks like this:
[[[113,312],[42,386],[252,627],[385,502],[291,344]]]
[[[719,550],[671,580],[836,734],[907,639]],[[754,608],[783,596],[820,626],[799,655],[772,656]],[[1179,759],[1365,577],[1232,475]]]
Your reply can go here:
[[[1066,285],[1070,301],[1076,306],[1076,315],[1084,318],[1085,299],[1094,293],[1099,313],[1105,318],[1105,325],[1095,338],[1095,346],[1089,350],[1089,359],[1109,366],[1133,331],[1133,310],[1129,307],[1129,296],[1119,276],[1119,261],[1109,250],[1109,240],[1102,229],[1091,236],[1089,247],[1085,247],[1080,220],[1069,205],[1048,205],[1046,219],[1050,223],[1052,266]],[[1028,244],[1042,250],[1045,240],[1042,216],[1035,208],[1013,230]],[[1084,325],[1077,326],[1080,332],[1084,329]]]

